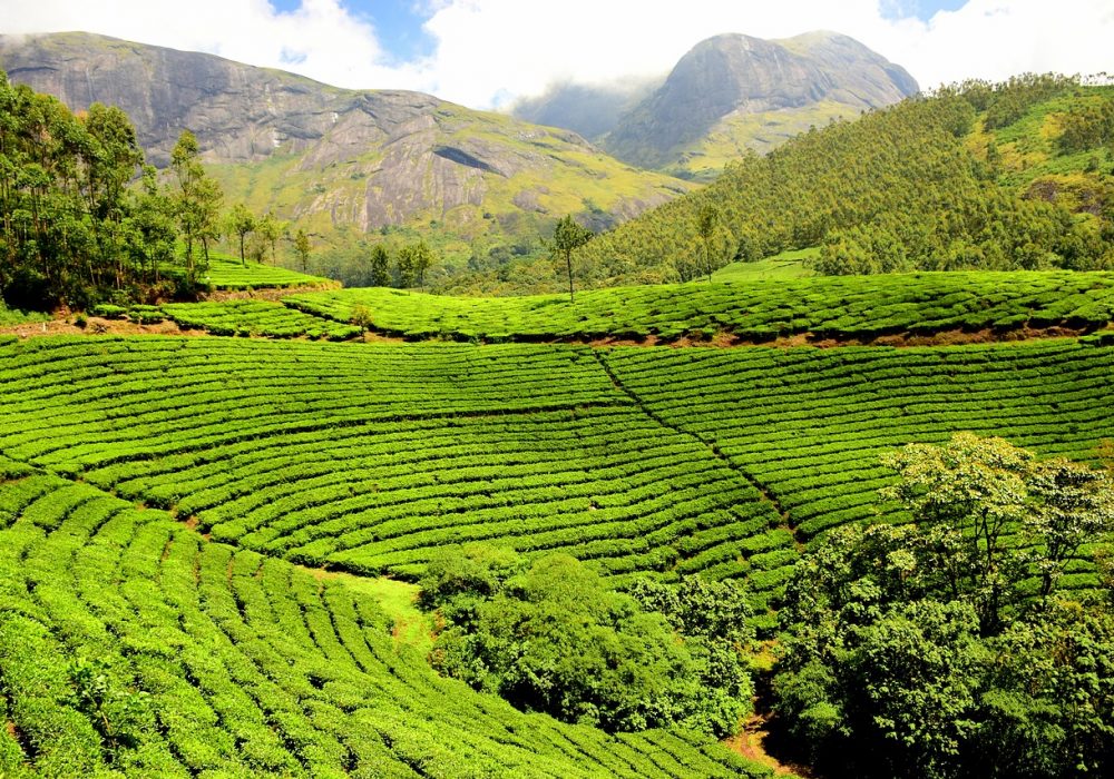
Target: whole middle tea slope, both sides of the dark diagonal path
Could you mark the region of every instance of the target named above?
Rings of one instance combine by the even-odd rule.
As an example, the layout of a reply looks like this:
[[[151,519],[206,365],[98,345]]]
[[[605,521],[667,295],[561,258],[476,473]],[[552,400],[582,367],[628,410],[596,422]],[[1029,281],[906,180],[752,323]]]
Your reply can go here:
[[[1114,347],[592,349],[40,338],[2,348],[0,452],[312,565],[446,544],[746,578],[876,516],[881,452],[971,430],[1093,461]]]

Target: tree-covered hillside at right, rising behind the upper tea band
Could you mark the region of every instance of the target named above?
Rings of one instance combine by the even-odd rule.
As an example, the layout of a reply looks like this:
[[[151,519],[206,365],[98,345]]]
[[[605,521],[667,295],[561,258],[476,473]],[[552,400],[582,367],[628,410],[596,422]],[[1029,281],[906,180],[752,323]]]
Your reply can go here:
[[[1056,155],[1091,152],[1063,166],[1074,201],[1059,197],[1059,181],[1012,185],[1007,174],[1024,164],[1007,168],[995,142],[1034,106],[1066,96],[1087,98],[1065,103],[1053,145]],[[720,215],[720,264],[820,246],[815,267],[825,274],[1110,268],[1112,117],[1108,89],[1057,76],[911,98],[743,157],[705,189],[599,236],[579,253],[585,282],[683,279],[705,250],[709,207]]]

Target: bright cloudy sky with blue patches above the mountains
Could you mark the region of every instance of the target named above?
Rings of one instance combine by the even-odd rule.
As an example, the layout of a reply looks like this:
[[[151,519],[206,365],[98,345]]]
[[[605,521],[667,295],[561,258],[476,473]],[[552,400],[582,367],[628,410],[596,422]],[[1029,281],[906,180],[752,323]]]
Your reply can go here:
[[[1112,0],[0,0],[0,32],[86,30],[418,89],[472,108],[547,85],[667,72],[721,32],[827,29],[934,87],[1025,71],[1114,72]]]

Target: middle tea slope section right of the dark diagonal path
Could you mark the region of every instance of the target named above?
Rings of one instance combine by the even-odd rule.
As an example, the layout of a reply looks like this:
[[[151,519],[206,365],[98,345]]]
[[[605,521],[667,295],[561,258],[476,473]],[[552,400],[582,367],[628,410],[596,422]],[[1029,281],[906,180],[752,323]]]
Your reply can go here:
[[[647,411],[762,484],[804,542],[848,522],[896,517],[878,500],[893,477],[879,455],[903,444],[973,431],[1095,462],[1114,431],[1114,348],[1094,341],[615,349],[606,363]]]

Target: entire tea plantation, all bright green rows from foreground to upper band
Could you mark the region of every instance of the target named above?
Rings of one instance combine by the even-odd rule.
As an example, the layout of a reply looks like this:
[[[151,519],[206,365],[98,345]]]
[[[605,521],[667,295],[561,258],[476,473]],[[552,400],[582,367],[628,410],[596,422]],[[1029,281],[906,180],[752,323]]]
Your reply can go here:
[[[947,295],[937,326],[1110,316],[1103,275],[920,303],[916,278],[886,304],[895,327]],[[841,279],[814,283],[801,294],[842,306],[844,332],[877,328],[883,293],[899,293],[836,299]],[[740,288],[645,295],[693,290],[677,309],[692,322],[712,294],[739,310]],[[782,316],[788,298],[770,294],[782,303],[747,310]],[[467,322],[511,310],[448,305]],[[0,775],[763,776],[703,736],[608,734],[441,678],[359,578],[416,580],[471,541],[566,552],[614,586],[745,582],[772,638],[793,564],[827,531],[906,521],[878,499],[893,480],[883,452],[973,431],[1095,463],[1114,430],[1105,332],[912,348],[383,345],[329,343],[361,328],[273,303],[163,312],[272,337],[0,339]],[[834,308],[811,316],[823,329]],[[291,339],[306,334],[321,339]],[[1068,589],[1095,586],[1089,552]]]

